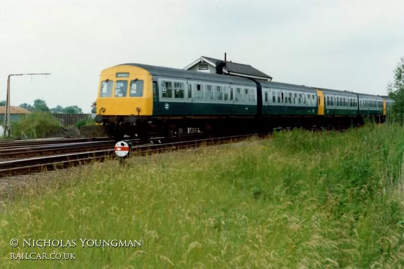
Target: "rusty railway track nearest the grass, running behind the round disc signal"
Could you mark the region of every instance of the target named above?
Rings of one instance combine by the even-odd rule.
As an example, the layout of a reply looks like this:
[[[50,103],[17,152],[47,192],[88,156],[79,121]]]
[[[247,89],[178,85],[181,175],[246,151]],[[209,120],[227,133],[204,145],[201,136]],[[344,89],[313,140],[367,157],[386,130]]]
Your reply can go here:
[[[166,151],[168,149],[177,150],[186,147],[197,147],[200,145],[214,145],[214,144],[228,143],[232,141],[235,142],[251,136],[264,137],[269,134],[270,133],[246,134],[229,137],[188,140],[174,143],[138,145],[133,146],[131,154],[147,155]],[[55,169],[73,167],[77,165],[83,165],[94,161],[98,162],[103,161],[106,158],[111,157],[114,158],[116,156],[115,151],[113,149],[113,145],[111,147],[112,148],[102,150],[92,150],[86,152],[76,152],[76,153],[59,154],[59,155],[51,155],[51,156],[43,156],[27,159],[17,159],[17,160],[9,160],[7,162],[1,162],[0,177],[38,173],[42,171],[50,171]]]

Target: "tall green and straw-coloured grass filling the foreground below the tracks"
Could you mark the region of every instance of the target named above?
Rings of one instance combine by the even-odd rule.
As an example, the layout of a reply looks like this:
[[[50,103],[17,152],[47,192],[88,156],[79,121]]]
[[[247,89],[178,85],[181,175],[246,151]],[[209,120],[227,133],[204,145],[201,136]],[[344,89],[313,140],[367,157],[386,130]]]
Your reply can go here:
[[[5,205],[1,262],[400,268],[403,151],[403,127],[371,125],[134,157],[126,169],[116,161],[85,167],[68,183],[47,181]],[[77,241],[74,248],[12,248],[12,238]],[[136,248],[83,248],[80,238],[142,241]],[[76,260],[10,260],[11,252],[41,251],[76,253]]]

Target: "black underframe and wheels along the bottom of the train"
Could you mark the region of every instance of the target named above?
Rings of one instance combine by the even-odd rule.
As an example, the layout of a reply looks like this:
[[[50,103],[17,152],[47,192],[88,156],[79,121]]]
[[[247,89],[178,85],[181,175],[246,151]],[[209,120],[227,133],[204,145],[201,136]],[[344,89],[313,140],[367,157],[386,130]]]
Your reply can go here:
[[[385,116],[368,116],[371,121],[383,123]],[[190,129],[204,132],[206,136],[230,136],[252,132],[269,132],[275,128],[348,128],[365,122],[362,116],[271,116],[271,117],[222,117],[222,118],[152,118],[128,119],[117,116],[105,119],[103,126],[108,136],[121,140],[125,135],[148,143],[150,136],[181,140]],[[128,138],[129,138],[128,137]]]

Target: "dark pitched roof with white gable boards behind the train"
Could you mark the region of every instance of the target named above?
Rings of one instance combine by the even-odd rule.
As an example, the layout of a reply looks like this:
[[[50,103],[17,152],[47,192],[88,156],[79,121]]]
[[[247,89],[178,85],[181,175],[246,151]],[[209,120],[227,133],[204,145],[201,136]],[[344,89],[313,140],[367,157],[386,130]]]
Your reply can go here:
[[[215,66],[215,67],[216,67],[217,62],[225,62],[223,60],[206,57],[206,56],[201,56],[199,59],[197,59],[196,61],[189,64],[184,69],[189,69],[201,61],[205,61],[208,64]],[[224,66],[225,72],[228,73],[229,75],[238,75],[238,76],[246,76],[246,77],[257,78],[257,79],[272,80],[271,76],[268,76],[267,74],[261,72],[260,70],[254,68],[250,65],[238,64],[238,63],[233,63],[233,62],[228,62],[228,61],[226,61],[225,63],[226,63],[226,65]]]

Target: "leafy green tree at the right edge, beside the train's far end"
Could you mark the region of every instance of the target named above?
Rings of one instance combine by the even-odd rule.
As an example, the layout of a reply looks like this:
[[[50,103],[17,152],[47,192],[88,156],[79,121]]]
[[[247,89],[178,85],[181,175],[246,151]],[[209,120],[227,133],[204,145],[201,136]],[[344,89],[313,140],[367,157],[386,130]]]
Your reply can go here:
[[[400,58],[400,62],[394,70],[394,82],[387,85],[388,96],[394,100],[390,107],[390,113],[394,115],[402,115],[404,113],[404,58]]]

